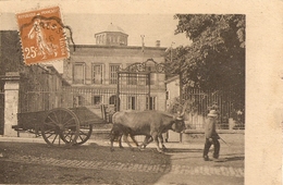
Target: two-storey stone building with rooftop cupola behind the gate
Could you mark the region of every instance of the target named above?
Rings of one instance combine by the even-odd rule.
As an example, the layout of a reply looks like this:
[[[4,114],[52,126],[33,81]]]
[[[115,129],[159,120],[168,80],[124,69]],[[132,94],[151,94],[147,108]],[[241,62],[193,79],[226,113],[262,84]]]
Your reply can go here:
[[[165,48],[160,47],[160,41],[155,47],[127,46],[128,35],[113,24],[95,34],[95,38],[96,45],[76,45],[75,51],[70,46],[71,58],[63,63],[64,79],[74,91],[79,91],[78,96],[74,92],[75,103],[113,106],[119,102],[119,110],[165,110],[165,75],[156,70],[164,62]],[[150,79],[130,70],[135,63],[143,63],[143,74],[150,73]],[[128,78],[121,78],[118,72],[125,72],[126,67],[128,73],[124,75]],[[148,81],[150,88],[146,87]],[[126,92],[122,94],[125,88]]]

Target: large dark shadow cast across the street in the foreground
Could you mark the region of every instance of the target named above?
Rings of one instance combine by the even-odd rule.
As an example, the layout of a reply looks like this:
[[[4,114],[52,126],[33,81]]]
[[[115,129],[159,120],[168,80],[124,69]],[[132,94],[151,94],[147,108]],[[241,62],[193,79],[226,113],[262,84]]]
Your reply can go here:
[[[7,157],[0,158],[0,184],[155,184],[172,168],[171,156],[153,148],[114,149],[97,144],[66,149],[0,141]],[[52,160],[59,162],[50,164]]]

